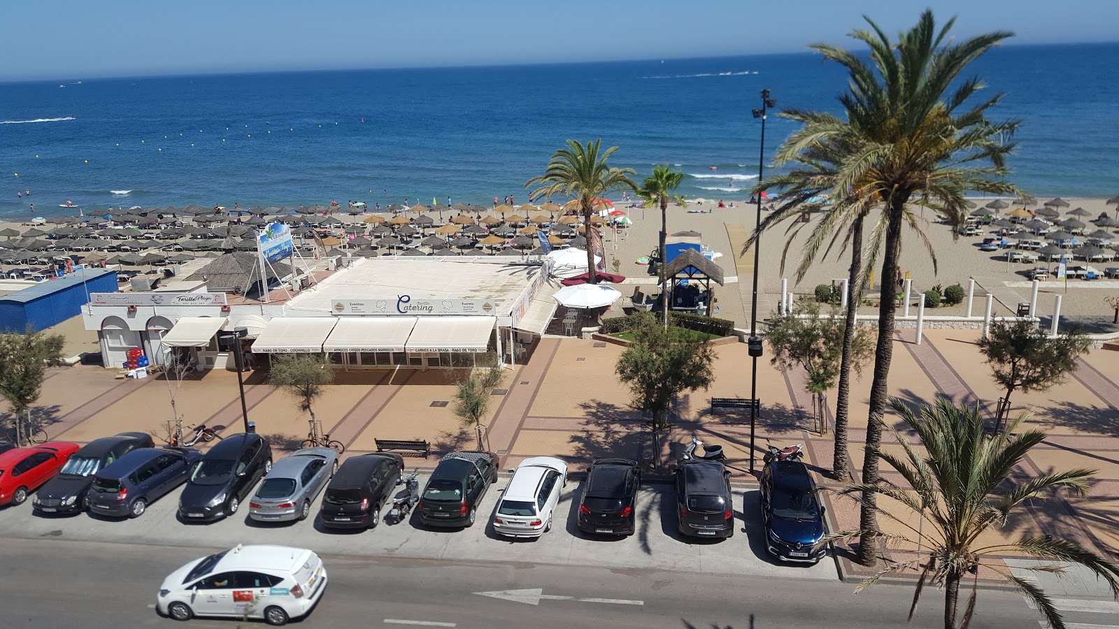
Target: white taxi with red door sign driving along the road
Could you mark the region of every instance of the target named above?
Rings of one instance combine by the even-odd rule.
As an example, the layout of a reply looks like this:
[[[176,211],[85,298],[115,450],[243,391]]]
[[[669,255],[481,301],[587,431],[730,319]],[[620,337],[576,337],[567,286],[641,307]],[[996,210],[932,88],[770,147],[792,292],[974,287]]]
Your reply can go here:
[[[237,546],[169,574],[156,609],[175,620],[228,616],[285,625],[307,616],[326,589],[327,569],[307,548]]]

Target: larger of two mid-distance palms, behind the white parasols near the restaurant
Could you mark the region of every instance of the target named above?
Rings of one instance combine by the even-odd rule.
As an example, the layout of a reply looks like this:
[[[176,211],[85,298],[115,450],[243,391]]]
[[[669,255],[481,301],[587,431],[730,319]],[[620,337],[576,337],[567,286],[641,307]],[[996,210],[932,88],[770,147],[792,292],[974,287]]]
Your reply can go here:
[[[632,168],[610,168],[606,158],[618,150],[610,147],[599,154],[601,138],[587,142],[584,147],[576,140],[567,140],[567,148],[552,154],[548,168],[544,175],[533,177],[525,187],[540,186],[529,193],[530,200],[552,195],[566,195],[579,200],[583,210],[583,225],[586,229],[586,272],[590,283],[598,283],[594,267],[594,248],[591,246],[591,216],[594,213],[594,201],[613,190],[637,191],[637,185],[628,177],[637,175]]]

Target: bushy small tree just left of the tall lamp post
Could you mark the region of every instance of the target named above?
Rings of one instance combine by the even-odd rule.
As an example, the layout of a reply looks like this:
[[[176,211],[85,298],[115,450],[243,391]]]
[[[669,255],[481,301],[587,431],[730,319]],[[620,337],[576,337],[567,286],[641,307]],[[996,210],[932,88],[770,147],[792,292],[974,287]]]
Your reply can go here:
[[[715,353],[703,335],[666,330],[649,318],[633,330],[633,344],[622,351],[614,370],[629,385],[633,406],[648,411],[649,426],[661,431],[671,425],[668,412],[677,395],[715,382],[714,360]]]

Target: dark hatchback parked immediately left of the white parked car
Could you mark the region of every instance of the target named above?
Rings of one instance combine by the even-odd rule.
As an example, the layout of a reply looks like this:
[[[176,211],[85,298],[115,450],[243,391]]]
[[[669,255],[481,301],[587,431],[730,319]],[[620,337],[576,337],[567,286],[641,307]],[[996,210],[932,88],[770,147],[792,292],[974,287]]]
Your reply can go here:
[[[478,505],[497,481],[497,466],[492,452],[444,456],[420,495],[420,522],[429,526],[473,526]]]

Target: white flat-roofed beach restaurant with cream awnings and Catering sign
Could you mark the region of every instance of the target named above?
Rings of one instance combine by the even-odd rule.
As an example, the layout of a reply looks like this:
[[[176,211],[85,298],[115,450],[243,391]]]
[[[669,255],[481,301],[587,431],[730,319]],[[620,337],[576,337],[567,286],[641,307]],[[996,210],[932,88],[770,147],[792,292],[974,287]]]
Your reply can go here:
[[[154,365],[180,351],[198,369],[233,367],[217,337],[236,328],[253,354],[325,353],[345,369],[482,367],[515,363],[543,334],[556,309],[536,299],[545,278],[538,263],[497,259],[354,259],[275,301],[172,282],[96,293],[83,314],[107,367],[132,348]]]

